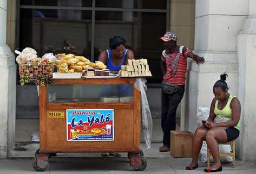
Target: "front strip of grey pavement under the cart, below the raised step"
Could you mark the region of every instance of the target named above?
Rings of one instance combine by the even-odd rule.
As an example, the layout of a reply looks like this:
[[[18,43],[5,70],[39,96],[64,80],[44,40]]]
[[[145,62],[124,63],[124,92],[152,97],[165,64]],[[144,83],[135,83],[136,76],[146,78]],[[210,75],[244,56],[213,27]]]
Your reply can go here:
[[[33,159],[2,159],[0,160],[1,174],[29,174],[38,173],[32,166]],[[185,170],[186,164],[191,158],[147,158],[148,166],[145,171],[136,172],[129,166],[129,160],[125,157],[99,157],[99,158],[60,158],[52,157],[48,170],[40,173],[204,173],[206,163],[199,163],[199,168],[193,171]],[[223,164],[223,171],[218,173],[255,174],[256,163],[237,161],[235,168],[231,164]]]

